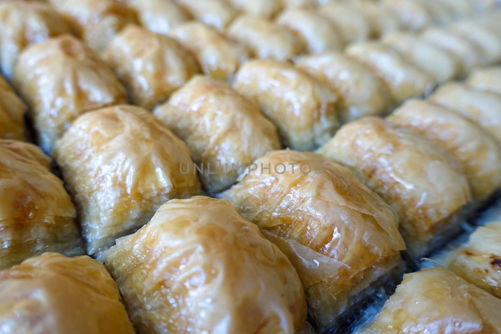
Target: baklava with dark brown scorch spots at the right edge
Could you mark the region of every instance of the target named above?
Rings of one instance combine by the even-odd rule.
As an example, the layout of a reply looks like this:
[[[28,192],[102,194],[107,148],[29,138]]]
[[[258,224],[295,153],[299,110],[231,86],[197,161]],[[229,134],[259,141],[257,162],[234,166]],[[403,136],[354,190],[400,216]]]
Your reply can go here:
[[[501,222],[479,226],[469,242],[453,252],[448,267],[466,281],[501,298]]]

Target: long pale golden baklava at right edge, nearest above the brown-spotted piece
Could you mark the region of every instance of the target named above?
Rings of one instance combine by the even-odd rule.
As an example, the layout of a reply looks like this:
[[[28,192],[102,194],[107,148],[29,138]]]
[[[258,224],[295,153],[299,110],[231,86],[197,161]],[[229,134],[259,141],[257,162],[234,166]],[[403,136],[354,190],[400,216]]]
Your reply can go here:
[[[407,101],[388,120],[418,132],[453,156],[476,202],[488,199],[501,187],[501,146],[474,122],[423,100]]]

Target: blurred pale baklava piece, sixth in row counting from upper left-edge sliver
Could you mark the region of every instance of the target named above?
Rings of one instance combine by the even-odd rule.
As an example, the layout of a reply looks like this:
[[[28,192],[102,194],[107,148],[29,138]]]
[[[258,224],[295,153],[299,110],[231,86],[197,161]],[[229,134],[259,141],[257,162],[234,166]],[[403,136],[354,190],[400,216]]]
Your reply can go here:
[[[296,8],[284,11],[277,22],[296,32],[307,46],[308,53],[343,48],[343,40],[336,27],[314,9]]]

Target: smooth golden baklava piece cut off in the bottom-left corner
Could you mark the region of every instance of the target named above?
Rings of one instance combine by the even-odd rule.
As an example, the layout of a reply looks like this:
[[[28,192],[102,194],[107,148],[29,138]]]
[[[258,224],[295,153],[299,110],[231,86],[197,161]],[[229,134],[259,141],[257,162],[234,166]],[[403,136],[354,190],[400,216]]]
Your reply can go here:
[[[89,256],[32,257],[0,271],[5,333],[133,334],[117,284]]]

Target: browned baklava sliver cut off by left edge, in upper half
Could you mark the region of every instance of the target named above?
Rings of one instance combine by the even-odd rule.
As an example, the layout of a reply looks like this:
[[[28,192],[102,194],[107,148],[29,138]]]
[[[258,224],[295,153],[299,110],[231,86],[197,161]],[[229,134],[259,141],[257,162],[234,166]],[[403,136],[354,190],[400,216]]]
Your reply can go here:
[[[25,113],[25,104],[0,75],[0,138],[25,140]]]

